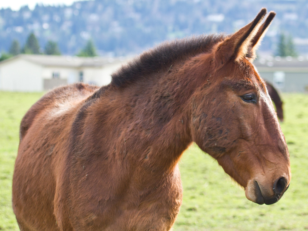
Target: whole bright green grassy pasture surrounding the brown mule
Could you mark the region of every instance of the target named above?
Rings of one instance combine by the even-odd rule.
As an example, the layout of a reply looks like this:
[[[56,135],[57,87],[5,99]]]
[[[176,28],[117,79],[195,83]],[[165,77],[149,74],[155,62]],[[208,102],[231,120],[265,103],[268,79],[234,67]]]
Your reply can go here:
[[[19,230],[11,208],[14,160],[22,116],[43,93],[0,92],[0,230]],[[209,155],[192,145],[180,160],[183,205],[173,227],[182,230],[308,230],[308,95],[284,94],[292,180],[274,205],[248,201]]]

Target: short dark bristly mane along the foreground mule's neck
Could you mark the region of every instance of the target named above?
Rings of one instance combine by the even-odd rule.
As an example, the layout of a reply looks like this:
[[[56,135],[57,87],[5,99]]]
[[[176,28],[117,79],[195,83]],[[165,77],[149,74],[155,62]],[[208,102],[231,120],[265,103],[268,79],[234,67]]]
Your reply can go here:
[[[225,35],[212,34],[164,42],[142,53],[113,73],[111,84],[117,87],[125,87],[130,83],[136,83],[151,73],[169,69],[176,60],[187,59],[209,51],[213,45],[220,42],[224,37]]]

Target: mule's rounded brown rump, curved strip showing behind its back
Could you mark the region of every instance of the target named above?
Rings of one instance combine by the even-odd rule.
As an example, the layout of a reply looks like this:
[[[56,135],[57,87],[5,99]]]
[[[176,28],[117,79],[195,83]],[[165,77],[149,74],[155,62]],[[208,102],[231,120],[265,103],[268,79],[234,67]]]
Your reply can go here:
[[[41,112],[54,107],[55,104],[63,101],[74,100],[74,98],[87,98],[98,89],[97,86],[87,85],[84,83],[75,83],[63,87],[57,87],[47,92],[41,99],[30,107],[22,118],[20,124],[19,139],[20,141],[26,135],[36,116]]]

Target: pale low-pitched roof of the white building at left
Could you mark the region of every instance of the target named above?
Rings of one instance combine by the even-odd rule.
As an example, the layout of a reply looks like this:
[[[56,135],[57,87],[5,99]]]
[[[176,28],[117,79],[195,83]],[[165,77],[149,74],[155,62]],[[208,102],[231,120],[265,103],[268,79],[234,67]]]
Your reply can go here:
[[[0,62],[11,62],[15,59],[23,59],[47,67],[102,67],[110,63],[123,62],[124,58],[106,58],[106,57],[78,57],[61,55],[26,55],[20,54],[10,59]]]

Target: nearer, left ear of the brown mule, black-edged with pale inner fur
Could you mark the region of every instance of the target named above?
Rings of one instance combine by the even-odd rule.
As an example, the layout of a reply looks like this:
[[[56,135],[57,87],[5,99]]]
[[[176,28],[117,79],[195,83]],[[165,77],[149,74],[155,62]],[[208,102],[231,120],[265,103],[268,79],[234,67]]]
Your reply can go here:
[[[257,17],[252,22],[217,44],[215,59],[218,65],[224,64],[229,59],[239,61],[245,56],[251,56],[249,54],[251,50],[251,43],[258,33],[265,14],[266,9],[261,9]]]

